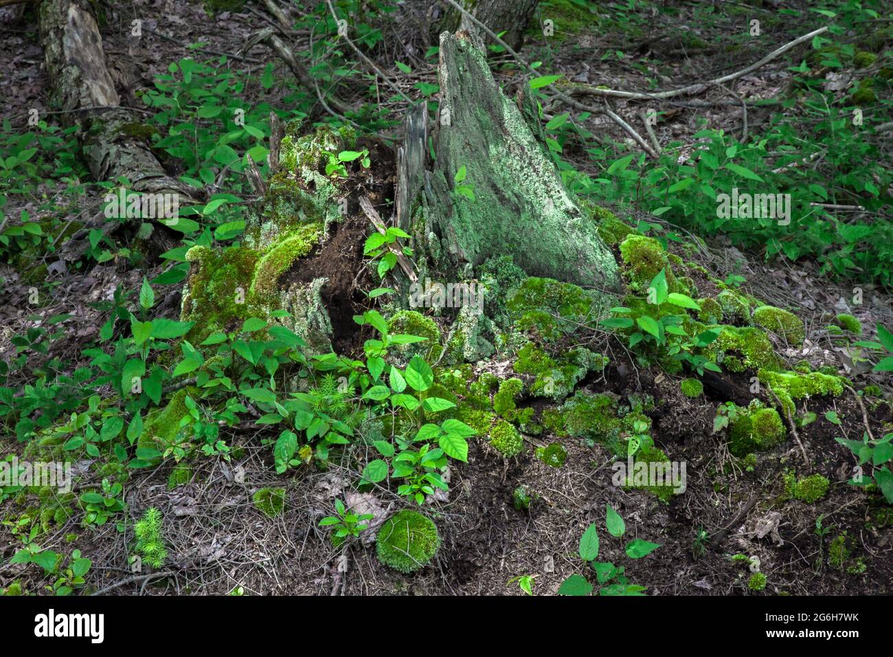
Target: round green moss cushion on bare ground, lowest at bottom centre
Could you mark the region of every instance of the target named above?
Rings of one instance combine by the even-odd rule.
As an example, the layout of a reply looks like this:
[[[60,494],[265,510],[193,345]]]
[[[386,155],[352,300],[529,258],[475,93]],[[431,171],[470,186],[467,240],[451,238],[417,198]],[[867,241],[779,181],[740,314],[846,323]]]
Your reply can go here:
[[[427,566],[439,547],[437,526],[413,510],[402,510],[388,518],[375,539],[381,563],[407,574]]]

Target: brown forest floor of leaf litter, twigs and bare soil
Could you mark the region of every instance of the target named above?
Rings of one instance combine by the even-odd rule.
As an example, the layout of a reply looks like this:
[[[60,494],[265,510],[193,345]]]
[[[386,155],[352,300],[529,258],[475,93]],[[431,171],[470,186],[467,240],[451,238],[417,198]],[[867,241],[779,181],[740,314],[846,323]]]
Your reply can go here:
[[[396,18],[394,31],[385,42],[388,52],[380,52],[377,63],[415,100],[421,97],[416,83],[436,82],[437,72],[433,62],[421,58],[430,43],[413,30],[420,10],[412,3],[407,5],[413,5],[415,11],[407,9]],[[729,22],[720,19],[711,24],[698,23],[696,5],[679,3],[672,16],[655,13],[645,31],[639,24],[624,29],[619,22],[596,26],[578,18],[572,35],[561,34],[556,39],[534,35],[522,55],[529,61],[547,62],[549,71],[563,72],[568,80],[644,89],[648,88],[647,75],[627,59],[608,55],[615,51],[659,53],[666,62],[659,80],[663,88],[670,88],[739,70],[768,51],[770,46],[742,46],[730,55],[722,47],[727,42]],[[732,12],[737,5],[723,3],[722,8]],[[546,5],[541,11],[545,15],[548,10]],[[0,118],[22,128],[32,108],[42,117],[52,118],[53,114],[47,105],[49,87],[36,22],[31,14],[4,21],[4,14],[14,11],[15,7],[0,9],[0,31],[4,33],[0,40],[0,102],[4,108]],[[750,15],[749,11],[744,15]],[[755,16],[765,18],[767,44],[785,43],[808,31],[796,24],[781,24],[768,10],[753,11]],[[736,15],[729,13],[729,21]],[[140,38],[132,38],[129,33],[134,19],[143,21]],[[139,0],[116,6],[102,26],[102,35],[107,63],[116,86],[123,91],[121,102],[140,111],[144,106],[141,92],[153,88],[154,80],[168,71],[169,63],[187,55],[228,54],[225,67],[260,76],[265,64],[276,60],[263,46],[254,46],[247,53],[241,49],[252,32],[270,24],[271,18],[263,13],[261,4],[218,13],[211,20],[202,4]],[[560,20],[558,24],[562,24]],[[647,43],[661,35],[663,38]],[[308,37],[294,35],[300,43]],[[201,49],[188,46],[198,42]],[[410,58],[423,65],[413,67],[411,76],[401,77],[393,62]],[[495,65],[500,58],[508,59],[496,55]],[[277,62],[275,75],[290,73]],[[497,66],[497,80],[505,84],[510,95],[514,75]],[[791,78],[782,65],[767,66],[739,80],[736,91],[740,97],[778,97],[789,87]],[[287,95],[285,88],[267,90],[255,85],[245,89],[244,102],[278,106]],[[729,99],[727,90],[721,87],[697,96],[699,101],[717,103]],[[399,105],[388,102],[394,103],[392,111],[398,113]],[[627,101],[612,101],[612,105],[628,122],[638,122],[641,105]],[[700,120],[734,134],[759,131],[771,112],[761,107],[745,114],[735,102],[697,106],[680,100],[669,105],[655,126],[656,137],[664,144],[674,139],[690,140]],[[320,108],[314,110],[319,112]],[[544,107],[544,111],[548,118],[558,114],[559,108]],[[597,139],[626,138],[604,115],[588,117],[580,127]],[[385,137],[396,137],[399,126],[382,132]],[[379,139],[368,143],[377,149],[372,156],[377,167],[373,178],[380,184],[363,192],[378,194],[383,203],[392,198],[393,141],[391,147]],[[599,173],[580,145],[568,143],[563,158],[580,171]],[[179,173],[171,159],[163,164],[170,166],[171,173]],[[61,181],[47,180],[32,195],[11,195],[4,213],[17,217],[27,211],[35,219],[50,215],[54,210],[46,209],[46,199],[58,198],[64,205],[64,187]],[[95,213],[101,198],[99,190],[93,190],[79,202],[78,212],[72,210],[67,218],[74,221],[81,213]],[[661,219],[635,208],[623,218],[630,223],[643,219],[659,226],[659,232],[673,230]],[[286,279],[300,282],[327,275],[333,281],[325,300],[339,305],[330,307],[336,349],[353,357],[362,355],[362,340],[368,337],[360,333],[352,316],[362,313],[363,305],[369,303],[359,291],[374,287],[370,271],[357,271],[363,267],[363,242],[369,231],[368,224],[360,219],[339,225],[325,252],[303,260]],[[60,332],[47,342],[44,358],[59,358],[74,365],[85,363],[80,349],[96,341],[108,316],[107,306],[101,302],[112,301],[117,288],[138,289],[144,275],[152,279],[169,268],[170,264],[157,256],[176,247],[178,237],[173,232],[159,232],[154,240],[142,267],[132,267],[119,257],[89,266],[51,266],[46,284],[40,288],[49,299],[38,309],[29,304],[34,283],[21,268],[0,265],[5,280],[4,304],[0,307],[0,359],[9,361],[19,353],[15,336],[43,326]],[[804,320],[806,338],[802,347],[776,343],[789,363],[807,360],[814,367],[835,366],[852,377],[860,390],[869,383],[882,386],[889,400],[888,377],[850,370],[851,363],[825,326],[829,312],[851,313],[864,327],[889,326],[893,324],[893,296],[871,281],[841,281],[820,274],[819,265],[811,260],[792,262],[776,257],[767,262],[762,253],[736,246],[725,237],[694,243],[697,249],[692,251],[671,241],[670,250],[703,265],[720,280],[729,274],[742,276],[746,282],[741,284],[741,291],[772,305],[791,308]],[[48,253],[45,264],[53,262]],[[31,267],[36,265],[39,263],[29,263]],[[700,282],[702,296],[707,296],[711,284],[706,277]],[[854,287],[863,291],[863,302],[858,306],[849,302]],[[154,291],[155,312],[179,319],[181,283],[156,285]],[[63,319],[57,319],[60,316]],[[688,465],[686,491],[673,496],[669,504],[645,491],[612,485],[613,455],[597,443],[542,434],[528,437],[528,449],[520,456],[505,459],[487,442],[472,440],[468,462],[450,468],[448,499],[430,509],[443,539],[433,565],[405,576],[382,566],[374,546],[355,546],[347,551],[344,571],[345,561],[340,559],[343,551],[332,546],[318,522],[330,514],[334,498],[351,493],[354,473],[333,464],[325,471],[305,467],[289,471],[287,477],[278,476],[269,445],[259,440],[263,427],[243,423],[225,430],[230,449],[241,448],[240,458],[229,463],[199,459],[188,484],[169,489],[171,465],[167,463],[130,476],[125,489],[127,506],[133,510],[154,506],[163,512],[170,555],[164,569],[170,573],[151,582],[118,585],[112,593],[228,594],[242,587],[246,594],[523,594],[514,578],[536,576],[534,592],[553,594],[566,577],[580,572],[580,535],[590,523],[602,522],[606,504],[625,519],[629,538],[661,544],[647,558],[630,561],[624,559],[619,539],[606,534],[602,537],[600,558],[625,564],[630,579],[647,585],[648,594],[754,594],[747,589],[751,575],[747,562],[742,565],[741,561],[730,560],[732,554],[758,558],[769,582],[764,594],[893,593],[893,511],[877,495],[870,496],[847,484],[855,459],[846,446],[835,441],[838,436],[859,441],[866,429],[877,437],[889,433],[893,425],[889,401],[869,401],[872,412],[865,418],[862,401],[855,393],[808,401],[808,409],[803,410],[812,411],[817,419],[800,428],[799,438],[812,459],[809,474],[826,476],[830,490],[821,501],[797,501],[786,494],[782,476],[782,468],[800,465],[797,442],[789,440],[761,454],[757,467],[745,469],[738,459],[730,457],[722,434],[714,433],[717,404],[732,400],[746,406],[753,397],[748,392],[749,373],[728,375],[721,388],[706,383],[705,395],[690,399],[681,394],[672,376],[639,366],[614,337],[599,333],[587,339],[592,341],[588,346],[612,360],[604,373],[584,379],[579,390],[613,392],[621,397],[651,395],[661,402],[647,413],[653,421],[655,443],[674,461]],[[475,372],[485,370],[511,375],[510,363],[498,360],[475,365]],[[16,388],[27,383],[24,373],[16,380],[13,372],[5,385]],[[841,424],[826,419],[830,411]],[[563,467],[550,467],[534,455],[535,446],[553,440],[560,440],[567,452]],[[21,445],[4,441],[4,450],[7,454],[21,453]],[[252,502],[252,493],[267,485],[284,485],[287,490],[285,510],[277,518],[265,517]],[[534,493],[528,511],[513,506],[513,491],[520,485]],[[754,497],[755,503],[744,518],[739,518],[739,511]],[[405,501],[388,493],[375,503],[396,509]],[[3,504],[9,510],[12,501]],[[823,535],[817,532],[817,520]],[[697,549],[698,530],[705,530],[707,535],[728,530],[728,536],[721,545],[706,545],[702,552]],[[129,543],[114,522],[88,529],[73,522],[54,526],[43,543],[63,545],[63,536],[72,531],[78,534],[80,552],[93,563],[88,587],[103,589],[129,576]],[[847,554],[833,567],[828,550],[830,542],[839,536],[844,536]],[[8,527],[0,527],[0,589],[17,580],[26,590],[39,591],[42,584],[36,569],[6,563],[14,549]]]

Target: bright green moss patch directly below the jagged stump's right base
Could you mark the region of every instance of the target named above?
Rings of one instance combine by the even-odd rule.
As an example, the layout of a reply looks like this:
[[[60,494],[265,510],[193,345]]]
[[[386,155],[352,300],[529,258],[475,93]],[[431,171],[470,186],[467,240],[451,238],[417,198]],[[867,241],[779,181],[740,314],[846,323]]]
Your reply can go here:
[[[595,324],[605,299],[578,285],[551,278],[530,277],[506,303],[509,316],[520,331],[531,331],[553,341],[572,333],[580,324]]]

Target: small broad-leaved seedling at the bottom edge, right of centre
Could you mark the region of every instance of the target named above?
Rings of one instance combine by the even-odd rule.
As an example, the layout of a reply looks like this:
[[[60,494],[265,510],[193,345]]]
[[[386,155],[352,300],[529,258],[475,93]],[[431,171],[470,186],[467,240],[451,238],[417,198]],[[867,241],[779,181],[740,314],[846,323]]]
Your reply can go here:
[[[626,533],[626,524],[620,514],[610,505],[605,505],[605,527],[608,533],[615,538],[622,538]],[[641,559],[654,552],[660,545],[636,538],[626,543],[625,552],[630,559]],[[624,575],[624,567],[614,566],[607,561],[597,561],[599,550],[598,531],[595,523],[580,537],[580,559],[588,563],[596,571],[596,580],[599,595],[643,595],[646,586],[630,584]],[[594,590],[594,586],[587,577],[572,575],[564,580],[558,588],[561,595],[588,595]]]

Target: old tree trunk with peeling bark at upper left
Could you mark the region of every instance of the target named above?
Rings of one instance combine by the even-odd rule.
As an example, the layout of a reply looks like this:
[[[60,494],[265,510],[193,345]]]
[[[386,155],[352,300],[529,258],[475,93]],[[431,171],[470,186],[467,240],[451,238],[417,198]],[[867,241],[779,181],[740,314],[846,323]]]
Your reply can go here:
[[[40,35],[52,84],[51,100],[65,112],[63,121],[82,119],[85,130],[80,146],[94,179],[124,176],[133,191],[177,194],[183,202],[190,202],[190,188],[164,172],[145,137],[140,136],[145,129],[138,130],[139,118],[121,107],[87,0],[44,0],[40,4]],[[71,244],[78,243],[76,233]],[[67,259],[78,255],[72,254],[71,248],[67,252]]]

